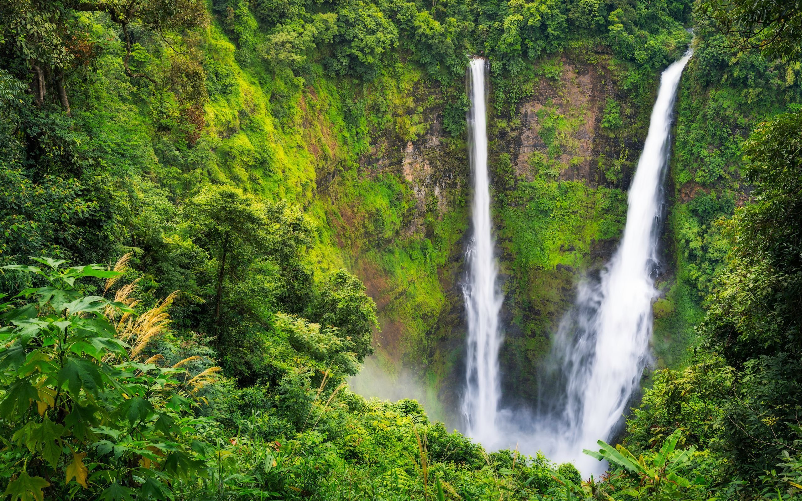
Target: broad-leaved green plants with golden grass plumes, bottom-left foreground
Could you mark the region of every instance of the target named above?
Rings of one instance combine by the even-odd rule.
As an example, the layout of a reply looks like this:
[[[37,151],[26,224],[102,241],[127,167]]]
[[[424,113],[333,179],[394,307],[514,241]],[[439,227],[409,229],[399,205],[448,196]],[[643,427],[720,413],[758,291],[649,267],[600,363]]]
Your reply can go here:
[[[13,456],[0,469],[5,494],[164,499],[166,479],[206,475],[205,448],[189,445],[208,425],[188,412],[192,384],[143,360],[173,296],[136,315],[132,287],[105,297],[124,266],[34,260],[42,266],[2,268],[43,284],[0,307],[0,441]],[[90,277],[107,279],[103,296],[84,293]]]

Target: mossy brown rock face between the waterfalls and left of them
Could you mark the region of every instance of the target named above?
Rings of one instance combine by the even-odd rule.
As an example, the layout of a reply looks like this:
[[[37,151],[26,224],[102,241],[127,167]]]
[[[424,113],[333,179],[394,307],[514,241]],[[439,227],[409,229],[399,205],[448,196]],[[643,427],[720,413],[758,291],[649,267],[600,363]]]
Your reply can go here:
[[[491,111],[488,120],[505,295],[501,365],[510,404],[537,398],[537,367],[573,302],[577,281],[595,273],[614,251],[626,216],[621,188],[637,161],[654,90],[621,91],[626,68],[603,52],[561,55],[548,64],[557,70],[533,76],[532,91],[513,116]],[[491,110],[493,104],[491,99]],[[608,107],[619,111],[615,128],[602,127]],[[444,133],[438,109],[429,113],[425,134],[407,141],[388,135],[365,163],[377,179],[392,173],[406,184],[409,208],[394,238],[431,242],[431,276],[391,276],[387,266],[361,251],[354,265],[379,305],[382,365],[391,373],[406,368],[419,374],[438,394],[440,417],[448,417],[448,411],[457,414],[464,380],[460,285],[471,234],[470,172],[464,140]],[[412,257],[394,256],[402,268]]]

